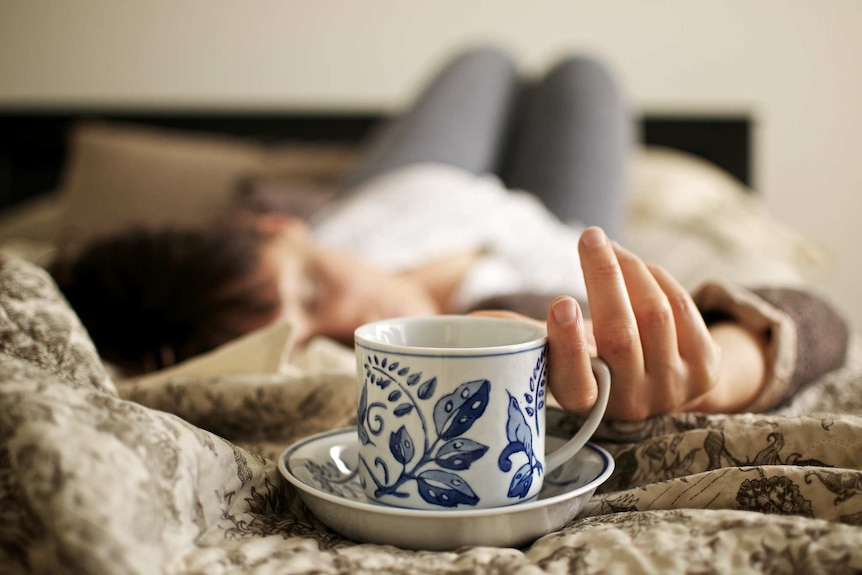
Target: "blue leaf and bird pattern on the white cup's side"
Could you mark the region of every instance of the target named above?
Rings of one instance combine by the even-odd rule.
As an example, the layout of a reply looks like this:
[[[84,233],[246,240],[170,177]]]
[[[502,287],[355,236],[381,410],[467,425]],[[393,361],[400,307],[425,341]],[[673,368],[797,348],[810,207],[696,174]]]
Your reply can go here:
[[[533,437],[538,433],[539,416],[545,406],[546,353],[543,349],[533,369],[523,409],[521,402],[509,393],[506,425],[509,443],[497,458],[498,467],[508,473],[515,454],[523,452],[527,459],[512,477],[510,498],[526,497],[535,474],[542,473],[541,462],[533,450]],[[382,353],[370,353],[363,368],[365,385],[357,407],[359,441],[365,445],[386,442],[384,445],[397,462],[392,469],[383,458],[366,461],[360,456],[360,465],[375,484],[375,497],[406,498],[408,493],[402,487],[414,481],[419,496],[431,505],[456,507],[479,503],[480,497],[459,472],[469,469],[488,452],[487,445],[467,435],[488,407],[491,381],[467,381],[435,398],[436,376],[412,373],[409,366]],[[369,403],[369,385],[386,391],[385,400]],[[420,408],[420,401],[432,400],[433,410]],[[390,412],[395,420],[413,414],[418,418],[421,437],[413,437],[408,426],[397,423],[387,435],[387,417],[383,412]]]

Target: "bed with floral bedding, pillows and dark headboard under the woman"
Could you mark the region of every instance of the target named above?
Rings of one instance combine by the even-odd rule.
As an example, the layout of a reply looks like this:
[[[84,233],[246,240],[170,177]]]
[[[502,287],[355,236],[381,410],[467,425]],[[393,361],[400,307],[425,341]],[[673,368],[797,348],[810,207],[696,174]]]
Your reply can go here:
[[[199,222],[236,200],[239,179],[304,209],[309,193],[349,169],[352,142],[369,124],[345,136],[332,126],[355,128],[356,117],[306,118],[297,137],[273,142],[272,133],[204,134],[211,122],[202,132],[146,127],[139,116],[81,124],[72,121],[81,114],[60,116],[6,118],[30,138],[47,120],[74,131],[41,132],[68,142],[52,168],[38,167],[47,161],[38,147],[27,161],[5,156],[15,174],[5,181],[39,189],[11,194],[0,217],[3,573],[862,571],[855,342],[844,367],[773,413],[603,424],[594,440],[613,456],[613,474],[576,518],[535,541],[428,551],[345,538],[309,510],[276,461],[301,438],[352,424],[351,350],[325,339],[293,349],[290,326],[276,324],[123,378],[42,266],[81,234],[128,225],[121,208],[150,222]],[[696,146],[668,146],[645,140],[633,159],[628,245],[689,287],[715,275],[805,285],[823,273],[828,254],[770,217],[746,185],[747,168],[734,174],[690,153]],[[560,436],[579,424],[558,410],[549,417]]]

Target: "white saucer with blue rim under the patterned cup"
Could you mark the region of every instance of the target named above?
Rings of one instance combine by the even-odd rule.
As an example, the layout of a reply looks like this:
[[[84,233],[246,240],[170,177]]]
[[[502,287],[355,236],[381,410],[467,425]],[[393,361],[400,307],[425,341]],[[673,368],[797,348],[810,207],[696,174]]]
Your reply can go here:
[[[550,435],[545,440],[549,451],[564,442]],[[574,519],[614,470],[611,455],[588,443],[545,477],[532,501],[490,509],[425,511],[391,507],[366,497],[359,483],[358,459],[356,429],[347,428],[294,443],[278,458],[278,469],[333,531],[362,543],[429,551],[532,543]]]

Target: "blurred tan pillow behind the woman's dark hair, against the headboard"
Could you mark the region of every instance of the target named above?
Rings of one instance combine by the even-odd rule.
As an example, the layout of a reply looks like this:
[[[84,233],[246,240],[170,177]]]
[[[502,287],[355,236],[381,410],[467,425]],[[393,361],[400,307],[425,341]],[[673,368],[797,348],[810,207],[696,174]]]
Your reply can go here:
[[[71,139],[56,239],[81,243],[133,226],[201,226],[236,207],[236,189],[249,178],[335,181],[352,162],[353,152],[344,145],[267,146],[222,135],[85,122]]]

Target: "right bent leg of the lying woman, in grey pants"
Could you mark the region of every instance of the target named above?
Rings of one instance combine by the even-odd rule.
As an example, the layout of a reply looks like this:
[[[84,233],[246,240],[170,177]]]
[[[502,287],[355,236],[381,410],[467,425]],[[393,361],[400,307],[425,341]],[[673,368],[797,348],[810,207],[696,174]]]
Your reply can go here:
[[[525,95],[501,176],[563,221],[617,236],[633,133],[610,73],[595,60],[570,58]]]

